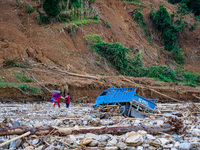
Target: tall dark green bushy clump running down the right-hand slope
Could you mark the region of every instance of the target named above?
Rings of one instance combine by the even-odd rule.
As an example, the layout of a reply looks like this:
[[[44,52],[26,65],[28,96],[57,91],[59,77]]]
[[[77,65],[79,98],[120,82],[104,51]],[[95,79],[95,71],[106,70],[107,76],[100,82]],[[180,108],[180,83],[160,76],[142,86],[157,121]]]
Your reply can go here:
[[[151,20],[159,32],[161,32],[162,42],[165,49],[172,52],[172,58],[178,63],[183,64],[184,54],[178,48],[179,31],[182,30],[182,23],[179,21],[179,26],[173,25],[169,13],[163,5],[160,5],[158,11],[151,11]]]

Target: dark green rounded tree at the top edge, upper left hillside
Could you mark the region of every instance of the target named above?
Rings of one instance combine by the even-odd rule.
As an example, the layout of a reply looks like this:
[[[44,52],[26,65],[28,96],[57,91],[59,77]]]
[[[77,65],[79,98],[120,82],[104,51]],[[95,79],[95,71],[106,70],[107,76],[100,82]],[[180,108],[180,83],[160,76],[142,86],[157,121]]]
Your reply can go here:
[[[60,0],[44,0],[43,10],[50,18],[55,18],[60,14]]]

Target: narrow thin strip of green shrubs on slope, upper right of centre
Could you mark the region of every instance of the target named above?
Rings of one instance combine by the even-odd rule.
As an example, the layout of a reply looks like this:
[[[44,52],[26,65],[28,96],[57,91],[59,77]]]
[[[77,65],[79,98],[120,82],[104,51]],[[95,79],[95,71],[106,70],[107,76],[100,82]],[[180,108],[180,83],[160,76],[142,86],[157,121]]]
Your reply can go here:
[[[135,9],[133,11],[132,17],[139,24],[140,28],[145,33],[146,39],[149,41],[150,44],[153,45],[153,42],[151,41],[151,38],[149,36],[149,32],[147,31],[147,28],[146,28],[146,21],[144,19],[142,12],[140,11],[140,8]]]

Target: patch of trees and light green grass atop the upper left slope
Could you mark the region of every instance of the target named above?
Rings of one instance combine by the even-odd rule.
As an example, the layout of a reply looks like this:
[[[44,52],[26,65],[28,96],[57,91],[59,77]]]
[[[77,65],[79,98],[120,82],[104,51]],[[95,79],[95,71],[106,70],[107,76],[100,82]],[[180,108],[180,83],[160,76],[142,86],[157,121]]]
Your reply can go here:
[[[38,24],[48,24],[52,21],[64,23],[75,22],[77,25],[88,25],[89,23],[99,23],[99,17],[91,8],[95,0],[44,0],[42,13],[39,13]]]

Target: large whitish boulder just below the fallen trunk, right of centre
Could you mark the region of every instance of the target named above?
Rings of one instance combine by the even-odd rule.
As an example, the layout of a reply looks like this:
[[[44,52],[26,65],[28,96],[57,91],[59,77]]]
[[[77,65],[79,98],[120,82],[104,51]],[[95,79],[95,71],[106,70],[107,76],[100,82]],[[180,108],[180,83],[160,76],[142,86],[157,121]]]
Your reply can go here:
[[[128,145],[138,146],[142,144],[143,138],[139,133],[132,131],[126,136],[125,142]]]

